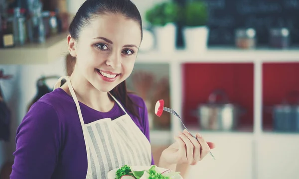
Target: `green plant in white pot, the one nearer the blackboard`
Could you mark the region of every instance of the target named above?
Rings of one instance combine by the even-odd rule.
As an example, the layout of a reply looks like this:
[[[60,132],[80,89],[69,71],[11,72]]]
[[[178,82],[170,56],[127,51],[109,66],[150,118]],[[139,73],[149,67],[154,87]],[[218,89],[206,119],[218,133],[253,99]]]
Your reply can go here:
[[[208,9],[202,0],[189,1],[183,8],[183,37],[187,50],[203,52],[207,49],[209,29]]]

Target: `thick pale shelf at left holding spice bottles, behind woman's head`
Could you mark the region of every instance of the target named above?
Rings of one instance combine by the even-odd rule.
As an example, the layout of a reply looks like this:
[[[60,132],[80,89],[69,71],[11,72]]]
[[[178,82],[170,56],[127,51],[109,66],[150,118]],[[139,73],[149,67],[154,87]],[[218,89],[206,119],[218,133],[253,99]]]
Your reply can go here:
[[[68,53],[67,33],[46,39],[45,43],[27,43],[23,46],[0,49],[0,64],[28,65],[46,64]]]

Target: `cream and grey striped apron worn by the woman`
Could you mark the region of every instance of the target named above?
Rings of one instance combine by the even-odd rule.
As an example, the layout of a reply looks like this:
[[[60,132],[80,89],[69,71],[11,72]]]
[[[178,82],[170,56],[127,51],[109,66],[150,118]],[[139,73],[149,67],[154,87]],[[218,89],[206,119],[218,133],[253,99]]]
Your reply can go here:
[[[111,93],[109,94],[125,114],[114,120],[104,118],[85,124],[69,78],[61,77],[54,89],[60,87],[62,79],[67,81],[82,126],[88,166],[86,179],[107,179],[109,171],[124,165],[151,165],[151,148],[148,138]]]

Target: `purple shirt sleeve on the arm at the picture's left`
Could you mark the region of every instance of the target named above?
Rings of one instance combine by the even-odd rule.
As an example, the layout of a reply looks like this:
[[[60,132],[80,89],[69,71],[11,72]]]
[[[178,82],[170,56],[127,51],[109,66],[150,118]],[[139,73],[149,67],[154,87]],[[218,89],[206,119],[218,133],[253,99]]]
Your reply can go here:
[[[35,102],[16,131],[10,179],[50,179],[58,161],[60,131],[54,107]]]

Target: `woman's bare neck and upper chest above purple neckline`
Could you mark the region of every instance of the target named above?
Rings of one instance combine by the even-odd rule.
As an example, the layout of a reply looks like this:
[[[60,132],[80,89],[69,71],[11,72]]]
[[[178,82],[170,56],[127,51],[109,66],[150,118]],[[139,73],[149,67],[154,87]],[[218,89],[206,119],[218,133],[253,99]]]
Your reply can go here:
[[[85,105],[100,112],[108,112],[114,106],[115,101],[110,100],[108,92],[99,91],[75,71],[70,76],[70,81],[78,101]],[[64,84],[62,89],[71,95],[67,84]]]

